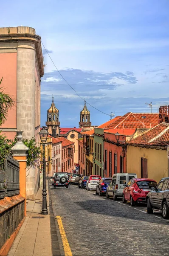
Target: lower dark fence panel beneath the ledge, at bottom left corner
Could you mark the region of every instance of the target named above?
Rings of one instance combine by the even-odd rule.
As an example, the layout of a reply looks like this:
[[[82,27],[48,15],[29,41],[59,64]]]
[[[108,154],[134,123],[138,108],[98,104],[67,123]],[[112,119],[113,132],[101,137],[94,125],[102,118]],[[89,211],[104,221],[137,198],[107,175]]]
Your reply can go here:
[[[0,248],[24,218],[25,201],[0,213]]]

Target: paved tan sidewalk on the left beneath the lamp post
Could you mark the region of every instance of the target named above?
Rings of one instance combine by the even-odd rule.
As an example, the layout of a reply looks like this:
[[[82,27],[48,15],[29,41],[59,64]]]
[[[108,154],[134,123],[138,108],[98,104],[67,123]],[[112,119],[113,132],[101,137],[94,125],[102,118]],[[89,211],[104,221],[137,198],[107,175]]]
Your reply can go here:
[[[48,193],[48,181],[46,181]],[[50,215],[41,215],[42,187],[36,200],[27,200],[27,216],[8,256],[52,256]],[[49,197],[47,195],[49,211]],[[40,218],[39,218],[40,217]]]

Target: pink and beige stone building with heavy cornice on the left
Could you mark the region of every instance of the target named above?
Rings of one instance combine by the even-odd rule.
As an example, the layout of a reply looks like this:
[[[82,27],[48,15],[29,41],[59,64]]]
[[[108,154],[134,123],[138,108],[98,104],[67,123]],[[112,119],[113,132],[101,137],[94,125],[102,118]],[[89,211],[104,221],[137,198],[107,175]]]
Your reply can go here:
[[[25,26],[0,28],[1,86],[15,102],[2,125],[3,134],[10,139],[15,130],[23,130],[23,137],[35,137],[39,145],[40,77],[43,76],[41,37],[35,29]],[[27,197],[34,198],[39,186],[39,171],[27,172]]]

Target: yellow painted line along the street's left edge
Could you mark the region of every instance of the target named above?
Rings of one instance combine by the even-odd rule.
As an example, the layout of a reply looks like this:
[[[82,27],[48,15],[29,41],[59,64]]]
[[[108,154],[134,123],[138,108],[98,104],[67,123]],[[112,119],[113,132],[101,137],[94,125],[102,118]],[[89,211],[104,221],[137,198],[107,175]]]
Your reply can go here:
[[[62,243],[63,243],[63,249],[65,251],[65,256],[73,256],[73,254],[70,250],[70,246],[69,246],[66,234],[65,234],[63,224],[62,224],[62,217],[56,216],[56,219],[57,219],[57,223],[58,223],[58,226],[59,226],[60,235],[61,235],[61,238],[62,238]]]

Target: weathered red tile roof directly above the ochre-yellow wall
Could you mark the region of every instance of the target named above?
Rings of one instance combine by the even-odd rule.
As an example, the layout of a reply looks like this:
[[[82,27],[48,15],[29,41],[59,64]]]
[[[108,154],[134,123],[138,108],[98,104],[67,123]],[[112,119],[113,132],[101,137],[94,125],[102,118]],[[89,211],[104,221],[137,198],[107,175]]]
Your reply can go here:
[[[136,138],[128,141],[130,144],[137,145],[167,145],[169,143],[169,124],[162,122]]]

